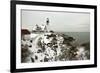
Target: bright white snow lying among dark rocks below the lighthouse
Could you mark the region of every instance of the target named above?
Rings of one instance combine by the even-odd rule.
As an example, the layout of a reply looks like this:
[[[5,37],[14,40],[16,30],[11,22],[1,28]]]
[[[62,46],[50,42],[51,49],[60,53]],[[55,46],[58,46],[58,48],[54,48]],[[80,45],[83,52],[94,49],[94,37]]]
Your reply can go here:
[[[31,45],[31,47],[28,48],[28,50],[31,52],[31,54],[28,57],[28,60],[30,58],[30,60],[34,59],[34,62],[44,62],[44,59],[47,58],[48,59],[47,62],[51,62],[51,61],[62,61],[62,60],[66,61],[66,60],[72,60],[72,59],[76,59],[76,60],[87,59],[85,47],[79,46],[79,47],[74,48],[74,49],[77,49],[77,51],[73,51],[71,50],[73,46],[68,46],[67,44],[63,44],[64,37],[58,34],[55,34],[56,36],[54,37],[54,36],[51,36],[52,34],[55,34],[55,33],[51,33],[51,32],[45,32],[41,34],[31,33],[30,40],[33,41],[32,43],[30,43],[29,40],[26,40],[26,41],[22,40],[23,45],[26,45],[26,44],[28,46]],[[52,44],[53,38],[57,39],[56,44]],[[37,45],[38,43],[40,43],[40,46]],[[45,50],[43,51],[43,49]],[[75,55],[74,57],[67,56],[66,58],[66,54],[64,53],[64,51],[65,53],[68,53],[68,54],[72,53],[73,55],[74,54],[77,54],[77,55]],[[73,51],[73,52],[69,53],[68,51]],[[62,59],[60,59],[59,56],[62,56]],[[29,62],[32,62],[30,60]]]

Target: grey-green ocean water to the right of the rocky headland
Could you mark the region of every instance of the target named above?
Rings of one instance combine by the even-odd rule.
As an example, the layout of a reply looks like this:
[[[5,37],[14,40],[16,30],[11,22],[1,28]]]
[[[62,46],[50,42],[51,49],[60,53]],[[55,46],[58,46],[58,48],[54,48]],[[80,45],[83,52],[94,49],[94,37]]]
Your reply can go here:
[[[75,39],[77,44],[90,42],[90,32],[59,32]]]

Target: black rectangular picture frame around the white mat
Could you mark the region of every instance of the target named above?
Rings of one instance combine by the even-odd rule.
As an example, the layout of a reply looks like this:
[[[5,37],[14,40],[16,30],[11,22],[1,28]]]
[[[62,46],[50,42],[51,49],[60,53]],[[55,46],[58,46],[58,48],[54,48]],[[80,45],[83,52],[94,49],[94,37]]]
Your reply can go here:
[[[94,10],[94,64],[88,65],[73,65],[73,66],[55,66],[55,67],[40,67],[40,68],[16,68],[16,6],[17,5],[35,5],[35,6],[50,6],[50,7],[69,7],[69,8],[84,8]],[[11,1],[11,30],[10,30],[10,46],[11,46],[11,72],[29,72],[29,71],[45,71],[45,70],[61,70],[61,69],[78,69],[97,67],[97,6],[94,5],[78,5],[78,4],[62,4],[48,2],[33,2],[33,1]]]

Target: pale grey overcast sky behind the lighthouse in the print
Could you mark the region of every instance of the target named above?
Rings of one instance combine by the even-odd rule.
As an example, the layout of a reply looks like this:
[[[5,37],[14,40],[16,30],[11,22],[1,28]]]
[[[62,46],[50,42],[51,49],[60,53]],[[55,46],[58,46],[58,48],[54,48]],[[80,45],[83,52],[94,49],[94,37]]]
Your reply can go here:
[[[22,29],[31,30],[36,24],[46,24],[50,20],[50,29],[59,32],[89,32],[90,14],[75,12],[51,12],[22,10]]]

